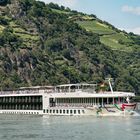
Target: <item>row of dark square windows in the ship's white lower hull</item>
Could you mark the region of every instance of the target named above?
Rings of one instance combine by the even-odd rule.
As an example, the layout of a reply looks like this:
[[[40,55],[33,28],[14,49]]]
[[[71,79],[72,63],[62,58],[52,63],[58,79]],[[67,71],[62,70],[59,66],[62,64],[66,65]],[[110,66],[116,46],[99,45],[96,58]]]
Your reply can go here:
[[[65,110],[65,109],[60,109],[60,110],[55,110],[55,109],[44,109],[43,113],[48,113],[48,114],[81,114],[85,113],[84,110]]]

